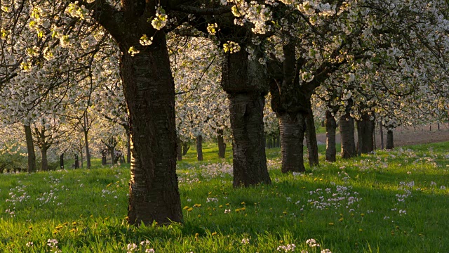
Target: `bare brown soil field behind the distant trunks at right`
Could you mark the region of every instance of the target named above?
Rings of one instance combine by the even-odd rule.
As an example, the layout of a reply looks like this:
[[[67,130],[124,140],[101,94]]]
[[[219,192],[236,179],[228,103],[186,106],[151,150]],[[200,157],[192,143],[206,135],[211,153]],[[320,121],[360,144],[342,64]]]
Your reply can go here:
[[[380,148],[380,129],[375,130],[376,146]],[[336,136],[337,143],[340,143],[340,134]],[[355,134],[357,141],[357,133]],[[400,147],[403,145],[415,145],[424,143],[436,143],[442,141],[449,141],[449,124],[440,123],[440,130],[437,124],[427,124],[423,126],[416,126],[416,129],[411,127],[399,126],[393,131],[394,146]],[[326,143],[326,134],[317,134],[316,140],[318,143]],[[384,143],[387,141],[387,131],[384,129]]]

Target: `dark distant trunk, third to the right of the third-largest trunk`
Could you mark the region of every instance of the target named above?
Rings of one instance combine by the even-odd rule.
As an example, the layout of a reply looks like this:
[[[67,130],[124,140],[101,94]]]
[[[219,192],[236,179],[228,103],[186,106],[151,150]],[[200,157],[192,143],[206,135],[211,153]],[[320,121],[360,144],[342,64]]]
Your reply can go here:
[[[342,158],[351,158],[357,155],[356,141],[354,139],[354,118],[349,111],[340,117],[340,136],[342,138]]]

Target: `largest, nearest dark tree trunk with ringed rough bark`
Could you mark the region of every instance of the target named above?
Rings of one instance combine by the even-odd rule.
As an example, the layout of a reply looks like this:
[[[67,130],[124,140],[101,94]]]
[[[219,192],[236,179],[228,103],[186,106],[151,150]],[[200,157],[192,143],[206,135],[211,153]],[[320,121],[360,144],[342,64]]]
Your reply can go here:
[[[142,36],[138,32],[136,38]],[[176,176],[175,84],[166,34],[156,32],[151,46],[123,53],[120,74],[128,104],[131,179],[128,223],[182,221]],[[130,45],[122,48],[126,51]]]

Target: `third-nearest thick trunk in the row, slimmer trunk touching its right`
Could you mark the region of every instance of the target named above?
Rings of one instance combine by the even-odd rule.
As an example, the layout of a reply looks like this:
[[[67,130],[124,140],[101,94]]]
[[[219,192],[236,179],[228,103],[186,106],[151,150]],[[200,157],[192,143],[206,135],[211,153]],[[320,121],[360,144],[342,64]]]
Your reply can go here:
[[[282,172],[303,172],[304,168],[304,115],[277,115],[281,131]]]

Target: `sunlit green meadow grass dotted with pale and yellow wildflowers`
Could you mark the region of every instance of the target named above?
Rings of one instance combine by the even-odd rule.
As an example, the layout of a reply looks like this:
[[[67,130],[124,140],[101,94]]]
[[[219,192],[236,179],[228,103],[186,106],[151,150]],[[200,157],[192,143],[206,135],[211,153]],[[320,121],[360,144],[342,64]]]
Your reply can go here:
[[[208,161],[192,149],[179,162],[182,225],[126,224],[126,165],[0,175],[0,251],[449,252],[449,143],[321,155],[305,174],[282,174],[270,149],[272,185],[239,189],[230,146],[225,160],[206,144]]]

